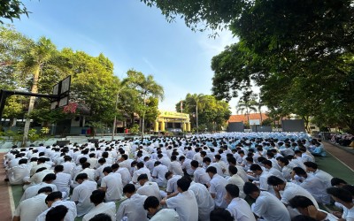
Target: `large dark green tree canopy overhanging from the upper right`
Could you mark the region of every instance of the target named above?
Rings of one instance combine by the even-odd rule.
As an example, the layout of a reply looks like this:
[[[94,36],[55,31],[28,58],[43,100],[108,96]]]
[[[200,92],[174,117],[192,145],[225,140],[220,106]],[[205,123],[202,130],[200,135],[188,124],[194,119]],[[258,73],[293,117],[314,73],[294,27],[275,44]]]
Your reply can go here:
[[[240,42],[212,58],[213,94],[254,81],[271,115],[313,117],[354,132],[354,4],[350,0],[142,0],[193,30],[228,28]]]

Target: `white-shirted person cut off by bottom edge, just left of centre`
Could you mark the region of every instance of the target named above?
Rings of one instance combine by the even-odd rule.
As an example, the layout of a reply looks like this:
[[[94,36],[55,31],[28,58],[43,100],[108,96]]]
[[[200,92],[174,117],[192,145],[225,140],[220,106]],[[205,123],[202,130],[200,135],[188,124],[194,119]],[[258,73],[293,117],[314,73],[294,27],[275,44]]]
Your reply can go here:
[[[162,209],[158,198],[155,196],[148,196],[143,208],[148,211],[150,221],[180,221],[178,213],[173,209]]]

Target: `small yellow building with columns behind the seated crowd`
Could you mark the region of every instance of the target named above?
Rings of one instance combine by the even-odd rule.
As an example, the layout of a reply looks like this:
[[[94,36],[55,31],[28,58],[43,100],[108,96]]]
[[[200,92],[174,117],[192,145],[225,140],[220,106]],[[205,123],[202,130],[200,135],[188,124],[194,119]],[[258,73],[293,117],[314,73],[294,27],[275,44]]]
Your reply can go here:
[[[181,124],[183,132],[190,132],[189,114],[173,111],[160,110],[158,118],[155,121],[154,132],[165,132],[167,125]],[[179,127],[177,127],[179,128]]]

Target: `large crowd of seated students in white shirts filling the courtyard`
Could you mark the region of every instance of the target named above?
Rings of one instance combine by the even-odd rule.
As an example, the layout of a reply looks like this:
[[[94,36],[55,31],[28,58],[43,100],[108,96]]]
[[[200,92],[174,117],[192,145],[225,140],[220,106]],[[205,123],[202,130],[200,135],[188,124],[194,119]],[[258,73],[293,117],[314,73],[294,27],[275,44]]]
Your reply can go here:
[[[353,220],[354,187],[319,169],[323,152],[305,133],[213,133],[14,147],[4,167],[24,189],[15,221]],[[330,198],[342,212],[319,209]]]

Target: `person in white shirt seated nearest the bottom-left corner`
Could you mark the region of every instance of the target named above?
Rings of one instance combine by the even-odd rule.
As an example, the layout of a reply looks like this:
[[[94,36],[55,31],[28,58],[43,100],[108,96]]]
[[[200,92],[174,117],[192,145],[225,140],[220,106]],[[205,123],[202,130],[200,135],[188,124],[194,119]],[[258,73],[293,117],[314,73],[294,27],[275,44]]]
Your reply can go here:
[[[51,191],[51,187],[42,187],[38,190],[37,195],[20,202],[18,208],[14,212],[12,221],[19,221],[21,219],[35,221],[36,217],[48,209],[48,206],[45,203],[45,198],[51,193]]]

